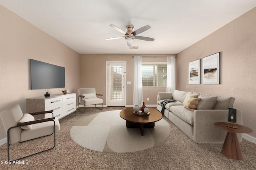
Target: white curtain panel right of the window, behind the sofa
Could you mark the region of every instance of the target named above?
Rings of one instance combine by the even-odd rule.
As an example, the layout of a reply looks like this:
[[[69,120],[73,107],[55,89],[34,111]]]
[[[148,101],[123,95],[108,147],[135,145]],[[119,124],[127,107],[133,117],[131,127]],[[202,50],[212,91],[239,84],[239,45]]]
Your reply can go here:
[[[167,80],[166,92],[175,90],[175,57],[167,57]]]

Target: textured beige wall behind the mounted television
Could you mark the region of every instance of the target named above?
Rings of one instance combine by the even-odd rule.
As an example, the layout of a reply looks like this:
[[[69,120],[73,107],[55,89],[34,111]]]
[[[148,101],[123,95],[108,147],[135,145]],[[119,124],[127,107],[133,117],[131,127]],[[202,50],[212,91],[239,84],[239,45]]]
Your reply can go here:
[[[0,23],[0,111],[17,103],[26,112],[26,98],[44,96],[45,90],[30,90],[30,59],[65,67],[66,89],[78,91],[78,53],[3,6]],[[50,94],[60,93],[60,88],[50,89]],[[4,137],[0,121],[0,139]]]

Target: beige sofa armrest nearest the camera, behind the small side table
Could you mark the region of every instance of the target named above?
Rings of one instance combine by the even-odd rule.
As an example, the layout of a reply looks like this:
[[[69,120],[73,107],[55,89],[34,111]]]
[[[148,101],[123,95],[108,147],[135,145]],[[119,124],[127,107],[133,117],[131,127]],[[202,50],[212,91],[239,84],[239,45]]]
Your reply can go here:
[[[242,111],[236,112],[236,124],[242,125]],[[228,110],[194,110],[194,141],[196,143],[223,143],[227,132],[214,126],[216,122],[228,122]],[[237,134],[242,141],[242,134]]]

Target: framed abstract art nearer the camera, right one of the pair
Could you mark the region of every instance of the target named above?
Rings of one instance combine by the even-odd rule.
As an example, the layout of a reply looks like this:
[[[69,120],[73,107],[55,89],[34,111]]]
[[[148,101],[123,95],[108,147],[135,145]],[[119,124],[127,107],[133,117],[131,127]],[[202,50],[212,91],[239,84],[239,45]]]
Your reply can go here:
[[[202,84],[220,84],[220,53],[202,58]]]

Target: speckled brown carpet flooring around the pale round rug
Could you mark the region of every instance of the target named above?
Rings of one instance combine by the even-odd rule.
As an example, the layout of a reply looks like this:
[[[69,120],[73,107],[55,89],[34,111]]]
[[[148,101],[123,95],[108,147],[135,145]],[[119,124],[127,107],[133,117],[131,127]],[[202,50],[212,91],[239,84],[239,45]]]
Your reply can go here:
[[[124,107],[104,107],[102,111],[120,110]],[[171,121],[168,138],[149,149],[109,153],[86,149],[70,138],[70,128],[80,119],[102,112],[86,107],[86,113],[77,111],[60,119],[56,134],[56,147],[31,156],[19,164],[4,164],[7,160],[6,144],[0,146],[1,170],[255,170],[256,144],[245,139],[240,143],[244,160],[232,160],[220,153],[223,143],[194,143]],[[11,145],[11,157],[34,152],[52,144],[52,137]]]

